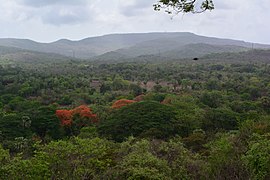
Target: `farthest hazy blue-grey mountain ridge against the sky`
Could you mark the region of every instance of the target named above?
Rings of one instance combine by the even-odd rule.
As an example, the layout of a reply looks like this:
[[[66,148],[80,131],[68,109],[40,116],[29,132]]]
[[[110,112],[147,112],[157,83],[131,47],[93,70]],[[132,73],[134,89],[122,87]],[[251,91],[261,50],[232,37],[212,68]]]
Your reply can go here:
[[[39,43],[27,39],[0,39],[0,46],[16,47],[31,51],[57,53],[64,56],[89,59],[107,53],[135,57],[141,55],[179,54],[190,52],[199,55],[220,52],[243,51],[251,48],[269,49],[270,45],[252,44],[244,41],[199,36],[187,32],[110,34],[78,41],[67,39],[52,43]],[[210,46],[210,52],[207,50]],[[177,58],[179,57],[177,56]]]

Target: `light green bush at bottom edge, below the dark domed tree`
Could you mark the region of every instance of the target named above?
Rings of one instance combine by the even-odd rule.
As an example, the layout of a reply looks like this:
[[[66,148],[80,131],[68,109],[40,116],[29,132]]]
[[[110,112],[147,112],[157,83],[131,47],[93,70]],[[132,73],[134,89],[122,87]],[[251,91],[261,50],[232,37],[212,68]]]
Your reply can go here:
[[[171,179],[171,170],[165,160],[154,156],[148,140],[130,138],[121,144],[123,159],[115,167],[116,179]],[[128,154],[127,154],[128,153]]]

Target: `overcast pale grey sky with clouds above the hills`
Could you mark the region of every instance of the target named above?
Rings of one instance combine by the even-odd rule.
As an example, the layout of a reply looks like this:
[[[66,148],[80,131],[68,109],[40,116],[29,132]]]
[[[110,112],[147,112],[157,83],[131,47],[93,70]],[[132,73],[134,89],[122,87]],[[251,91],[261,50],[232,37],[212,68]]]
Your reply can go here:
[[[215,10],[155,12],[158,0],[0,0],[0,38],[52,42],[132,32],[193,32],[270,44],[270,0],[214,0]]]

